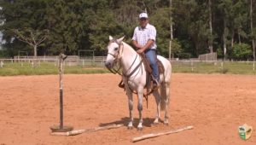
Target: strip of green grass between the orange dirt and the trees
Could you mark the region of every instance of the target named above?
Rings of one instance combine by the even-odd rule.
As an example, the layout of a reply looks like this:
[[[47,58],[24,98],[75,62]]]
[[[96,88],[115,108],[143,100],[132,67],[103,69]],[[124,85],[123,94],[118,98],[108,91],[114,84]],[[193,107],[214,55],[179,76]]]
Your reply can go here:
[[[256,64],[255,64],[256,66]],[[253,62],[172,62],[173,73],[232,73],[232,74],[256,74],[253,71]],[[58,74],[55,63],[41,62],[37,67],[31,63],[4,63],[0,68],[0,76],[15,75],[44,75]],[[110,73],[105,67],[96,67],[88,64],[86,66],[65,66],[64,73]]]

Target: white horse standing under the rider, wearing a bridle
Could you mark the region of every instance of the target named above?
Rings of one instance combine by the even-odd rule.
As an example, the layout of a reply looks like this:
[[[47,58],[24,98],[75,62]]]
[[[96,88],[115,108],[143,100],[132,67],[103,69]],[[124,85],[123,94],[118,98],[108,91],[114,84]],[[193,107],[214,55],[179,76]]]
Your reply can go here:
[[[146,72],[145,67],[142,63],[142,58],[137,52],[131,48],[129,44],[123,42],[123,38],[115,39],[109,36],[110,42],[108,43],[108,56],[105,62],[105,66],[108,69],[113,69],[116,63],[122,68],[122,79],[125,83],[125,90],[128,96],[128,104],[130,111],[130,121],[128,124],[128,129],[133,127],[133,91],[137,92],[138,104],[137,109],[139,112],[139,124],[137,125],[137,130],[143,129],[143,90],[146,86]],[[159,123],[160,119],[160,109],[165,109],[165,119],[164,123],[168,125],[168,104],[170,98],[170,81],[172,66],[170,61],[166,58],[157,55],[157,58],[162,62],[165,72],[160,73],[160,93],[158,90],[153,91],[155,102],[157,105],[156,118],[154,119],[154,124]]]

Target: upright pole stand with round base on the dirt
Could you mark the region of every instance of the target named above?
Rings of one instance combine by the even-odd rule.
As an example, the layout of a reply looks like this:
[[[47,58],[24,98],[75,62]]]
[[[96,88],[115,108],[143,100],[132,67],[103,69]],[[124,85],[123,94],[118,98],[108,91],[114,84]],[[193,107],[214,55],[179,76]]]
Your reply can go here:
[[[63,125],[63,88],[62,88],[62,75],[63,75],[63,62],[67,58],[67,55],[59,55],[59,74],[60,74],[60,125],[50,126],[52,132],[66,132],[72,131],[73,126]]]

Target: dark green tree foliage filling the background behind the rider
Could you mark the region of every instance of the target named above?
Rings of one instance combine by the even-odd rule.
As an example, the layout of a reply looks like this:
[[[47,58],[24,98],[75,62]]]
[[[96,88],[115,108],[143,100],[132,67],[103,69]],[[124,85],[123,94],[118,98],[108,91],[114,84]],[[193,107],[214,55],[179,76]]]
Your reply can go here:
[[[10,30],[34,32],[49,31],[48,39],[38,47],[38,55],[78,55],[79,49],[95,50],[104,55],[108,35],[121,37],[131,43],[137,15],[145,10],[149,22],[157,29],[160,55],[168,56],[170,41],[170,14],[173,24],[172,54],[189,54],[191,57],[227,47],[232,57],[234,44],[252,45],[255,39],[256,1],[253,1],[253,35],[250,29],[249,1],[212,0],[1,0],[0,31],[3,32],[6,56],[13,57],[19,50],[33,54],[32,48]],[[212,34],[209,15],[212,12]],[[218,57],[224,57],[218,53]]]

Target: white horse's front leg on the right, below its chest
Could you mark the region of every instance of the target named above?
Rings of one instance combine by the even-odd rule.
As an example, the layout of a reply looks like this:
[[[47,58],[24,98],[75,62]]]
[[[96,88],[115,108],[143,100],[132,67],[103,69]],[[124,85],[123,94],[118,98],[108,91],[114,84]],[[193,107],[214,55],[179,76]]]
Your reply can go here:
[[[139,112],[139,124],[137,125],[137,130],[143,130],[143,89],[138,89],[137,91],[138,103],[137,110]]]

